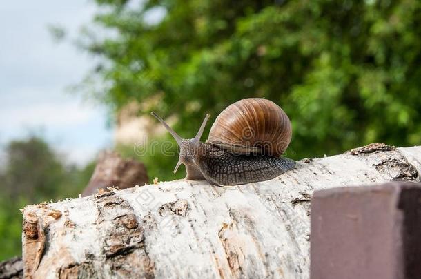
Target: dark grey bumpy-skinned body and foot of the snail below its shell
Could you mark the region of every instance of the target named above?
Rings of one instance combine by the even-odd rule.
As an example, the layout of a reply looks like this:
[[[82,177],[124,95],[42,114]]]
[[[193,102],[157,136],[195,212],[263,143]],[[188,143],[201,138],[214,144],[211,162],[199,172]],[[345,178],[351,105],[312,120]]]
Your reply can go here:
[[[289,158],[263,155],[233,155],[219,147],[199,143],[197,165],[214,185],[240,185],[269,180],[295,166]]]

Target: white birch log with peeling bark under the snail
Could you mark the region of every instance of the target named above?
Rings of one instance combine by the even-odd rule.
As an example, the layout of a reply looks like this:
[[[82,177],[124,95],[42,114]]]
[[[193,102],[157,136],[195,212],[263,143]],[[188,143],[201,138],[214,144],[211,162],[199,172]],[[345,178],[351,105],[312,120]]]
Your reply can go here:
[[[317,189],[420,181],[421,147],[372,144],[223,188],[175,180],[23,211],[32,278],[309,278]]]

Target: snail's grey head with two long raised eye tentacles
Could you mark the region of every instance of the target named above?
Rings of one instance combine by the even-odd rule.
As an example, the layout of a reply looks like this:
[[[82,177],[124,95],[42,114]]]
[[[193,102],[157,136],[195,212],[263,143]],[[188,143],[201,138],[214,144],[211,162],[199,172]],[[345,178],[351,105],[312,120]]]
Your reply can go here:
[[[175,138],[175,141],[177,141],[177,145],[180,148],[178,163],[175,166],[174,173],[177,172],[177,169],[181,164],[197,167],[197,163],[195,161],[196,152],[199,147],[200,137],[203,134],[204,128],[206,127],[206,123],[208,122],[210,114],[206,114],[204,121],[202,122],[202,125],[200,126],[199,131],[197,132],[196,136],[194,138],[187,138],[187,139],[179,136],[173,130],[173,128],[171,128],[161,117],[159,117],[158,114],[156,114],[155,112],[150,112],[150,114],[155,116],[155,118],[157,118],[159,122],[161,122],[161,124],[164,125],[165,129],[168,132],[170,132],[173,138]]]

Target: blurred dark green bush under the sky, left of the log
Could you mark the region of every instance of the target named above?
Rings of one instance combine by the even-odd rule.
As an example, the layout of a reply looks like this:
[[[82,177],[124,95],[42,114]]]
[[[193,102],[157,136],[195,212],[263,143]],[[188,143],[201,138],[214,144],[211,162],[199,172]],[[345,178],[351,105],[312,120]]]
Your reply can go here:
[[[0,261],[21,254],[19,208],[77,197],[95,167],[94,163],[80,169],[66,165],[38,136],[11,141],[5,152],[6,165],[0,171]]]

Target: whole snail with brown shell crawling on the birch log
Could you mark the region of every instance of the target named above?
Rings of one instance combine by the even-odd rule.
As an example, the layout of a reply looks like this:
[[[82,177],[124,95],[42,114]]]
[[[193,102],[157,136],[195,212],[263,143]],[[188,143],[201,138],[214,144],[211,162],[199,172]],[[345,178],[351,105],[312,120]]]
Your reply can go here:
[[[180,137],[151,112],[179,145],[179,161],[186,166],[186,180],[208,180],[220,186],[269,180],[295,166],[280,157],[291,141],[292,129],[286,113],[267,99],[242,99],[217,116],[205,143],[200,141],[210,114],[206,114],[196,136]]]

